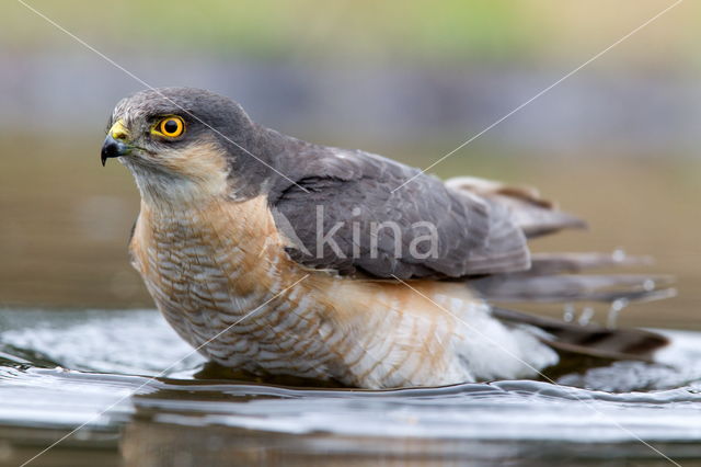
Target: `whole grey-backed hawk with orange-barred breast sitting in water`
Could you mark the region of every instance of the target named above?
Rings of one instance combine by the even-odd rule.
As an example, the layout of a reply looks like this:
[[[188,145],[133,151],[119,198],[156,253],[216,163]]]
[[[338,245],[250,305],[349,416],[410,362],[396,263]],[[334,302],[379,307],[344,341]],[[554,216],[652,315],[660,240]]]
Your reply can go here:
[[[117,158],[141,195],[133,264],[220,365],[378,389],[537,377],[564,351],[645,360],[666,343],[491,305],[664,293],[575,274],[620,258],[531,254],[530,238],[583,224],[532,190],[296,139],[199,89],[138,92],[107,128],[103,164]]]

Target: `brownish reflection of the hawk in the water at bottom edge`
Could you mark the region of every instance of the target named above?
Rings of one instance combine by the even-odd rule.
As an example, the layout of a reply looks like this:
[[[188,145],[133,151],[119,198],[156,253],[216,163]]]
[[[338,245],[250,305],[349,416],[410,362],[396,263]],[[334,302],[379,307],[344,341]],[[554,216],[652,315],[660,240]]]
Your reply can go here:
[[[122,455],[127,467],[433,466],[464,459],[469,447],[476,446],[464,441],[375,436],[358,440],[322,433],[299,436],[135,421],[124,432]]]

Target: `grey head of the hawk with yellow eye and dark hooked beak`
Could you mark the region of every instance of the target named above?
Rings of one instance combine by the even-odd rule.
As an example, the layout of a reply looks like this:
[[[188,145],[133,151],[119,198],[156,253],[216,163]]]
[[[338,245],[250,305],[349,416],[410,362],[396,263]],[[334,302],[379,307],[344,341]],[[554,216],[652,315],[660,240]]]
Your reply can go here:
[[[134,173],[145,200],[179,203],[231,193],[235,179],[262,175],[250,152],[257,126],[232,100],[193,88],[161,88],[123,99],[101,151]],[[257,166],[257,167],[256,167]]]

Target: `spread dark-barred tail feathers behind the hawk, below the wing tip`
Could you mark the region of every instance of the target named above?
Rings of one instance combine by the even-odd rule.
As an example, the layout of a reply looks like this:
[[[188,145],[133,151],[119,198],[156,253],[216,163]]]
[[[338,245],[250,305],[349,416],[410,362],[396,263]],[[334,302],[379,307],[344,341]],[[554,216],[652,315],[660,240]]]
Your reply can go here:
[[[648,264],[648,258],[621,253],[549,253],[532,258],[529,271],[493,275],[471,282],[485,298],[496,301],[608,304],[657,300],[675,295],[673,278],[666,275],[578,274],[607,266]],[[493,315],[512,326],[527,324],[543,332],[539,338],[563,355],[597,358],[653,361],[654,352],[668,344],[667,338],[641,329],[609,329],[578,324],[492,307]],[[536,331],[539,333],[538,331]]]

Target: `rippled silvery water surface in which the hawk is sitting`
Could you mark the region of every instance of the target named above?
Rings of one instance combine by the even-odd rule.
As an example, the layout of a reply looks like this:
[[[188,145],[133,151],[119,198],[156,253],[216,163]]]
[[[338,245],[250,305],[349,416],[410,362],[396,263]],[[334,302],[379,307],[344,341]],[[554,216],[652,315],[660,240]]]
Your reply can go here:
[[[697,332],[560,385],[366,391],[217,379],[154,310],[5,310],[0,329],[2,466],[81,425],[28,465],[701,465]]]

